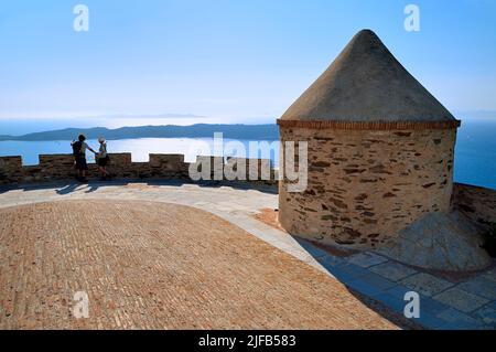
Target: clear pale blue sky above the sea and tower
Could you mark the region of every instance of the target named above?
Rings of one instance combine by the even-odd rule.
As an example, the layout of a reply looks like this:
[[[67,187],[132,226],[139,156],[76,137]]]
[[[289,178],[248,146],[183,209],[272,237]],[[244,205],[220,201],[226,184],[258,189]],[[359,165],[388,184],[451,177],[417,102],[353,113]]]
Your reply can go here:
[[[1,0],[0,118],[272,119],[363,28],[449,109],[496,110],[494,0]]]

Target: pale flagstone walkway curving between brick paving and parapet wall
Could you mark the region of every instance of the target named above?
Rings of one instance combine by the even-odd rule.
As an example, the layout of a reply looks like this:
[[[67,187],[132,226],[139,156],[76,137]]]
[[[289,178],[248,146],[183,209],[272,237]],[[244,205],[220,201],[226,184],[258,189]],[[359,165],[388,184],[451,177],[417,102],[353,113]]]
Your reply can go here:
[[[60,200],[141,200],[177,203],[208,211],[248,233],[337,278],[348,288],[402,313],[405,294],[420,295],[420,318],[427,329],[495,329],[496,269],[450,280],[390,260],[371,252],[335,256],[312,243],[257,221],[261,209],[278,206],[273,188],[254,185],[158,183],[43,184],[0,189],[0,207]]]

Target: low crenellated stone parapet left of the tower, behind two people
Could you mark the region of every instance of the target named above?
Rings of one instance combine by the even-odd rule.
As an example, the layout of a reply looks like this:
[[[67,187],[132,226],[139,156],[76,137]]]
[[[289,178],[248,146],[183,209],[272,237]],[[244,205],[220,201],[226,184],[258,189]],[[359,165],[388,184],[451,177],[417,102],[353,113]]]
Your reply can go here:
[[[241,180],[276,184],[276,171],[270,168],[270,160],[200,156],[195,163],[184,161],[183,154],[149,154],[148,162],[133,162],[131,153],[109,153],[109,171],[118,179],[182,179],[192,180],[190,167],[202,171],[203,180]],[[39,164],[23,166],[21,157],[0,157],[0,184],[50,182],[69,180],[76,174],[72,154],[41,154]],[[237,166],[246,166],[245,178],[229,178],[225,170],[237,170]],[[258,170],[255,170],[255,166]],[[263,168],[262,168],[263,167]],[[267,169],[268,167],[268,169]],[[269,171],[267,171],[269,170]],[[254,173],[255,172],[255,173]],[[98,177],[95,163],[88,163],[88,178]],[[227,175],[227,177],[226,177]],[[197,180],[194,180],[197,181]]]

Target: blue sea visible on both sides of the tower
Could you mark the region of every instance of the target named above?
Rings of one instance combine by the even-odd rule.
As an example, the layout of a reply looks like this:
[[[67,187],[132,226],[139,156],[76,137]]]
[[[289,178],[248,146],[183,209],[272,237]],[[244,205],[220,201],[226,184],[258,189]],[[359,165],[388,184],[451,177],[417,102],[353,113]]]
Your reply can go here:
[[[62,122],[47,121],[35,127],[29,122],[0,121],[0,135],[21,135],[32,131],[42,131],[62,128]],[[71,127],[71,126],[64,126]],[[88,126],[89,127],[89,126]],[[233,142],[224,140],[225,143]],[[271,141],[269,141],[271,142]],[[96,140],[89,140],[93,148],[98,148]],[[241,141],[249,150],[249,141]],[[203,147],[202,147],[203,146]],[[148,161],[149,153],[182,153],[186,161],[194,161],[196,154],[222,154],[213,151],[213,140],[191,138],[142,138],[109,141],[110,152],[131,152],[133,161]],[[203,149],[202,149],[203,148]],[[207,150],[205,150],[207,149]],[[69,141],[0,141],[0,156],[22,156],[24,164],[36,164],[40,153],[71,153]],[[225,153],[228,156],[229,153]],[[265,157],[248,152],[251,158]],[[90,158],[89,158],[90,159]],[[270,153],[273,164],[277,166],[279,152]],[[496,117],[495,118],[466,118],[459,129],[454,180],[456,182],[475,184],[496,190]]]

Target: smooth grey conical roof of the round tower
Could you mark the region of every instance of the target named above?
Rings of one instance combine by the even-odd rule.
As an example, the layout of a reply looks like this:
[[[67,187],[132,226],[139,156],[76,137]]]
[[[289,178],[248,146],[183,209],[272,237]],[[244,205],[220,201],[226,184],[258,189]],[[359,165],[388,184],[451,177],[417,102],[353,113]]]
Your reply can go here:
[[[280,120],[456,122],[370,30],[359,31]]]

